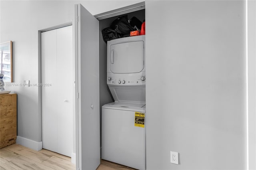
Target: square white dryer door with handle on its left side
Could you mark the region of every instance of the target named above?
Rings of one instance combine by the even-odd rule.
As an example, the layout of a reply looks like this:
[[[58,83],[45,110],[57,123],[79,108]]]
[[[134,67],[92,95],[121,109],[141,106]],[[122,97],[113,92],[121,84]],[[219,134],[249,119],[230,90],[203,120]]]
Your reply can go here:
[[[112,73],[139,73],[143,68],[143,41],[110,45],[110,70]]]

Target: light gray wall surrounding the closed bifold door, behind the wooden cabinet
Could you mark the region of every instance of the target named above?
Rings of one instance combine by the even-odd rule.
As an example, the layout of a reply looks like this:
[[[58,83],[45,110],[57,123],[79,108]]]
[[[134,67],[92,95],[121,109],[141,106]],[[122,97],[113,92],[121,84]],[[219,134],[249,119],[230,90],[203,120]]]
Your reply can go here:
[[[91,14],[99,14],[135,1],[5,1],[0,6],[0,42],[13,41],[14,83],[38,83],[38,30],[72,22],[74,4],[82,4]],[[49,82],[50,83],[50,82]],[[6,87],[18,94],[18,136],[42,141],[38,87]]]

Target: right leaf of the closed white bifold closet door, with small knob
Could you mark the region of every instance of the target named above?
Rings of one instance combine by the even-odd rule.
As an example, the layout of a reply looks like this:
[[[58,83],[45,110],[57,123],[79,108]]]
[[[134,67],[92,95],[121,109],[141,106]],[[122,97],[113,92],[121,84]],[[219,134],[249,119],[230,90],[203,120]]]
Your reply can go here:
[[[57,29],[58,153],[73,151],[72,26]]]

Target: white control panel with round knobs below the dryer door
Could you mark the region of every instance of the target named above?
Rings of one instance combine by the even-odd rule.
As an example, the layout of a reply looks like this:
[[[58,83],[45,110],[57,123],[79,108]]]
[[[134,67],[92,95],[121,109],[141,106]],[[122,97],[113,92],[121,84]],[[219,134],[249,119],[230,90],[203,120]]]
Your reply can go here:
[[[145,72],[140,74],[113,74],[107,73],[108,85],[145,85],[146,75]]]

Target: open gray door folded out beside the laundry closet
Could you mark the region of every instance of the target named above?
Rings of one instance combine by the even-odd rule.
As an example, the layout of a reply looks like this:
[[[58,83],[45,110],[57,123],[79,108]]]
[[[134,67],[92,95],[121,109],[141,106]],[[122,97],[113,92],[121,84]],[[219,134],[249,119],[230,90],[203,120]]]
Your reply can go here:
[[[75,5],[76,169],[100,164],[99,21]]]

